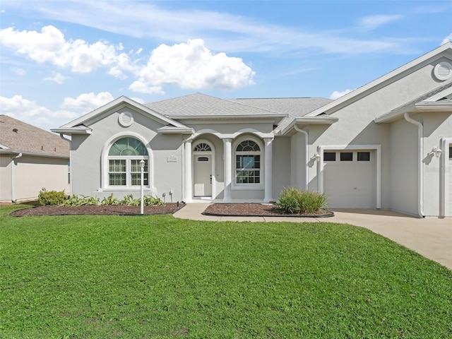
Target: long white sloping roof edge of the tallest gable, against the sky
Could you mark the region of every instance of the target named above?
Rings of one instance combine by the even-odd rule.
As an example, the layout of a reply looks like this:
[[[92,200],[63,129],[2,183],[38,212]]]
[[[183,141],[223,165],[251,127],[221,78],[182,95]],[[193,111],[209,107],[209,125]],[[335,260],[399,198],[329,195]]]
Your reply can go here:
[[[316,109],[313,112],[307,114],[307,117],[316,117],[319,114],[332,114],[338,109],[350,105],[352,102],[355,102],[361,99],[362,97],[365,97],[367,94],[373,93],[375,90],[384,87],[384,85],[386,85],[387,83],[395,81],[395,79],[398,76],[402,76],[403,73],[408,73],[410,69],[424,62],[428,62],[433,58],[437,58],[439,54],[444,52],[449,53],[449,56],[452,58],[452,42],[446,42],[445,44],[442,44],[440,47],[432,50],[431,52],[422,55],[422,57],[410,61],[408,62],[408,64],[405,64],[399,67],[398,69],[395,69],[394,71],[391,71],[386,75],[381,76],[380,78],[377,78],[376,80],[371,81],[370,83],[367,83],[367,85],[364,85],[360,88],[357,88],[356,90],[353,90],[350,93],[347,93],[346,95],[343,95],[343,97],[334,100],[328,105],[325,105],[324,107]]]

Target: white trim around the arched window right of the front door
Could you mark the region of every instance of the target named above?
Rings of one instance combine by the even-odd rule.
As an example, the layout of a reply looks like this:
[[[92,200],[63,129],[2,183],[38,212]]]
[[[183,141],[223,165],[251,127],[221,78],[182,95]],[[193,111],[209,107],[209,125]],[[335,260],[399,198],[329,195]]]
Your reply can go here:
[[[259,150],[258,151],[250,151],[250,152],[243,152],[242,151],[237,151],[237,146],[241,143],[243,143],[244,141],[253,141],[254,143],[256,143],[258,145]],[[260,167],[258,169],[259,171],[259,182],[256,183],[237,183],[237,155],[259,155],[259,161],[260,161]],[[237,138],[233,143],[232,143],[232,189],[240,189],[240,190],[246,190],[246,189],[263,189],[264,188],[264,183],[265,183],[265,152],[264,152],[264,145],[263,145],[263,141],[261,141],[261,139],[256,138],[256,136],[252,136],[252,135],[245,135],[245,136],[241,136],[240,138]]]

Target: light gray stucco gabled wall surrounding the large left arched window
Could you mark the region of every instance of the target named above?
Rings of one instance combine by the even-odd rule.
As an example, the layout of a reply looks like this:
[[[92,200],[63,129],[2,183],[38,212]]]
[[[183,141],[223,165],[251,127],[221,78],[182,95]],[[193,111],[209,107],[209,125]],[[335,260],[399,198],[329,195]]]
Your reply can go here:
[[[134,122],[124,128],[119,125],[118,117],[121,112],[132,112]],[[170,201],[169,191],[173,192],[173,201],[182,201],[182,136],[157,134],[157,129],[162,124],[143,116],[133,110],[119,109],[100,121],[90,124],[93,129],[90,135],[73,135],[71,149],[73,166],[73,194],[85,196],[99,196],[100,198],[114,194],[122,198],[127,194],[138,197],[139,186],[133,189],[114,190],[107,189],[102,184],[102,175],[106,170],[102,165],[102,156],[108,152],[107,141],[112,138],[124,136],[140,136],[147,141],[145,145],[150,148],[150,188],[145,188],[145,195],[153,195],[162,198],[165,193],[167,201]],[[175,157],[175,162],[169,162],[168,157]],[[104,170],[102,174],[102,170]]]

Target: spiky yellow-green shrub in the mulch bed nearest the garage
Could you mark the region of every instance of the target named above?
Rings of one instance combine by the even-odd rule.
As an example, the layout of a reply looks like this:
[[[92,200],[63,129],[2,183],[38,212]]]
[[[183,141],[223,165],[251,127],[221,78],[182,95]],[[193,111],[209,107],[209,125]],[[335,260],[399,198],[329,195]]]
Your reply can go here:
[[[288,187],[280,193],[276,205],[286,213],[316,213],[318,210],[326,208],[326,199],[325,194],[316,191],[303,191]]]

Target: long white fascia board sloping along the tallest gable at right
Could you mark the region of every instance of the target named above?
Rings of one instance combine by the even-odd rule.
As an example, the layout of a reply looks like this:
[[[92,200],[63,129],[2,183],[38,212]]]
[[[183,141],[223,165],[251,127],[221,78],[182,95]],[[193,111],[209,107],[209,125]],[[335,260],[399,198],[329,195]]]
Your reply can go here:
[[[436,55],[441,54],[442,52],[447,51],[448,49],[452,49],[452,42],[446,42],[446,44],[443,44],[440,47],[434,49],[433,51],[422,55],[422,57],[412,60],[412,61],[408,62],[408,64],[400,66],[398,69],[395,69],[394,71],[391,71],[391,72],[387,73],[386,75],[381,76],[380,78],[377,78],[376,80],[371,81],[370,83],[367,83],[367,85],[364,85],[360,88],[357,88],[356,90],[353,90],[350,93],[347,93],[343,97],[340,97],[339,99],[334,100],[333,102],[331,102],[323,107],[320,107],[309,114],[306,114],[304,117],[316,117],[317,115],[328,112],[329,110],[334,109],[335,107],[338,107],[340,105],[343,105],[344,103],[346,103],[348,101],[352,101],[353,99],[357,100],[359,95],[363,95],[364,93],[371,90],[372,88],[379,86],[387,81],[390,81],[391,78],[394,78],[394,77],[408,71],[409,69],[412,69],[413,67],[415,67],[419,64],[422,64],[424,61],[427,61],[429,59],[432,59],[433,57],[436,57]]]

